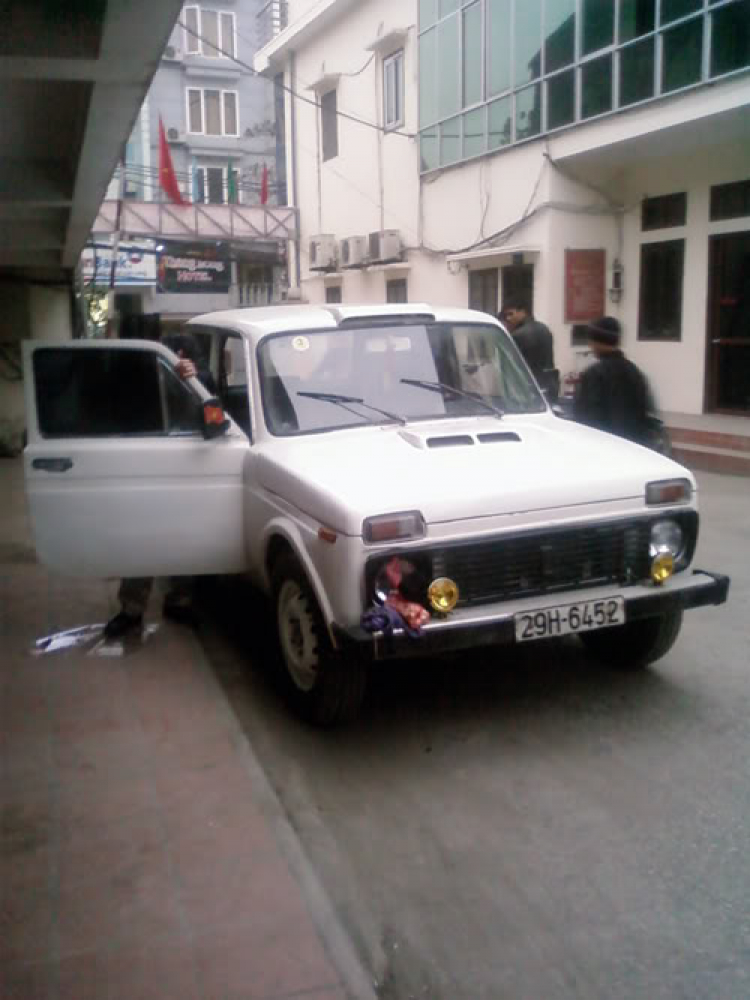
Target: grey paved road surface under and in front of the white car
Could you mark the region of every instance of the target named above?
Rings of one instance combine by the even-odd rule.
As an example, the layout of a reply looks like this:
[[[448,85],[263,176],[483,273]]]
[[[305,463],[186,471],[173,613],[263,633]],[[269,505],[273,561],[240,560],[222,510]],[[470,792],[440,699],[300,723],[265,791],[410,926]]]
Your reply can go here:
[[[574,642],[393,667],[320,734],[257,597],[214,591],[209,659],[383,997],[750,996],[750,484],[700,482],[731,602],[638,676]]]

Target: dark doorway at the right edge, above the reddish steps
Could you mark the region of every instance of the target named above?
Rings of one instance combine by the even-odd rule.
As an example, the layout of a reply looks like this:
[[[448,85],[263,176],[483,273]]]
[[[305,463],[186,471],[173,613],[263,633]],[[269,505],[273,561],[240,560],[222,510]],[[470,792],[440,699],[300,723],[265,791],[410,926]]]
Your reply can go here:
[[[706,408],[750,416],[750,232],[712,236]]]

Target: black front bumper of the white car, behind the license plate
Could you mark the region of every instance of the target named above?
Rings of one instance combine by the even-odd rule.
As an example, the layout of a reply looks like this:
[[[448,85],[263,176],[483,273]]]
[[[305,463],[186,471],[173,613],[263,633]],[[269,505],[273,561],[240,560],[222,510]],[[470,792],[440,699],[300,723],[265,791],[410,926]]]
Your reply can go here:
[[[653,584],[592,587],[590,590],[557,593],[554,597],[539,595],[477,608],[460,608],[446,619],[429,622],[418,639],[411,639],[398,629],[391,635],[381,632],[371,634],[359,626],[343,628],[335,623],[331,631],[341,652],[370,661],[434,656],[477,646],[512,645],[516,641],[514,616],[549,607],[552,603],[570,604],[624,597],[626,621],[631,622],[677,609],[687,611],[708,604],[723,604],[728,592],[728,576],[693,570],[692,573],[678,574],[662,587]]]

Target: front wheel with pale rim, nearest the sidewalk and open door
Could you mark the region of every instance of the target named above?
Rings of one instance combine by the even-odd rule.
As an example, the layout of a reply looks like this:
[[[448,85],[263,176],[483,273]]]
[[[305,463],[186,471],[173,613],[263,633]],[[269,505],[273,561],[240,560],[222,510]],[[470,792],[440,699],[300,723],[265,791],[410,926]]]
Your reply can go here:
[[[364,663],[345,660],[331,647],[312,587],[290,552],[274,563],[271,584],[282,683],[291,707],[315,726],[351,722],[365,696]]]

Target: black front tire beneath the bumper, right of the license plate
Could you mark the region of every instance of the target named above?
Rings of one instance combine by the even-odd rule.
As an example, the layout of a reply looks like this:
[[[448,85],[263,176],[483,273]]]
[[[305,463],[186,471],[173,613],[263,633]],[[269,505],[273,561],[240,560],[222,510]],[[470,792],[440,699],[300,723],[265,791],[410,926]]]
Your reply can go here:
[[[658,618],[641,618],[598,632],[584,632],[580,639],[597,660],[621,670],[638,670],[665,656],[677,641],[681,627],[680,608]]]

